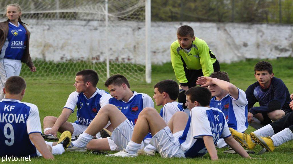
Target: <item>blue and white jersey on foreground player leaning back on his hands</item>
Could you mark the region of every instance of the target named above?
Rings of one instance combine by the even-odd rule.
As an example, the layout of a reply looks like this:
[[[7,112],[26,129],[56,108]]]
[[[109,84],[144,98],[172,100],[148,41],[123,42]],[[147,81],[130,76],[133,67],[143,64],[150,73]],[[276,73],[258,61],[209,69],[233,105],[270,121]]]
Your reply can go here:
[[[190,111],[183,134],[179,137],[180,148],[186,158],[201,157],[207,153],[203,136],[212,136],[216,144],[219,138],[230,135],[222,111],[217,108],[194,107]]]

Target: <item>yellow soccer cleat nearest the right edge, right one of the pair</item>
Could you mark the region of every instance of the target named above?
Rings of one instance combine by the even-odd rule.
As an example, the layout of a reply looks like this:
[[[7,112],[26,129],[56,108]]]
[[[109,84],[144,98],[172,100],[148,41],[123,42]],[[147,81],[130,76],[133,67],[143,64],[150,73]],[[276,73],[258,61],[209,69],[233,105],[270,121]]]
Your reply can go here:
[[[275,150],[276,147],[274,146],[271,137],[261,137],[260,135],[257,135],[253,132],[251,132],[250,135],[253,141],[255,143],[258,143],[263,148],[267,149],[270,152]]]

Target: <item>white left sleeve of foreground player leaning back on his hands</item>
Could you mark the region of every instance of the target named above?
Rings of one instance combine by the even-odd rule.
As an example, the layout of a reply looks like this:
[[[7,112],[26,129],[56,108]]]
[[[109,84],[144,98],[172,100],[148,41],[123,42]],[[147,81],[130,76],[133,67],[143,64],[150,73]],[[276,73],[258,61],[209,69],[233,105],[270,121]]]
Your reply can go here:
[[[196,107],[195,107],[196,108]],[[194,138],[202,138],[203,136],[213,136],[207,113],[202,110],[193,108],[190,112],[192,131]]]

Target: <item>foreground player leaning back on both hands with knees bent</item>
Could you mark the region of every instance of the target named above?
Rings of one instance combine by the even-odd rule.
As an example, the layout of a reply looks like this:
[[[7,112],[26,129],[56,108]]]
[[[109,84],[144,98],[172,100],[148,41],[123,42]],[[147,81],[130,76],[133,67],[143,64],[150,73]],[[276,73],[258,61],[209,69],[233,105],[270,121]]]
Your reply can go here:
[[[138,117],[131,141],[126,149],[107,156],[135,157],[144,136],[151,131],[150,144],[163,158],[201,157],[209,153],[217,160],[215,145],[220,137],[241,156],[250,158],[229,132],[225,116],[219,109],[210,108],[211,92],[205,87],[192,87],[185,92],[190,116],[178,111],[168,125],[154,108],[145,108]]]

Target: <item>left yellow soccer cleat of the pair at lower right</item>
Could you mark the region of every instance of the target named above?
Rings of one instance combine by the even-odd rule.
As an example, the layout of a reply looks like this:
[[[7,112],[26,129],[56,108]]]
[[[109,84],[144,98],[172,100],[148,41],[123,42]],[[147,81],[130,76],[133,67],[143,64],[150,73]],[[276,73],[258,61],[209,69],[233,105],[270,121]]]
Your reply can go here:
[[[246,149],[253,149],[255,147],[255,143],[252,141],[250,135],[247,133],[240,133],[234,130],[233,128],[229,128],[232,137],[241,144],[242,147]]]

